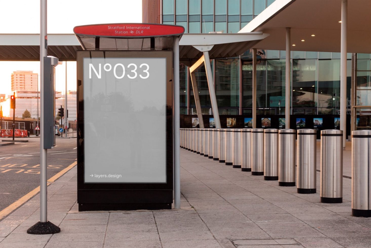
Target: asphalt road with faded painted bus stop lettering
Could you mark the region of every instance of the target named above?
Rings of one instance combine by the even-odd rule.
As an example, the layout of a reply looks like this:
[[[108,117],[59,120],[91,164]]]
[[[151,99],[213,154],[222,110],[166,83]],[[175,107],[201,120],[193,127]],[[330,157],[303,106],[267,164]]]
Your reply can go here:
[[[40,138],[22,139],[29,142],[0,146],[0,211],[40,185]],[[47,154],[49,179],[76,161],[76,138],[56,138]]]

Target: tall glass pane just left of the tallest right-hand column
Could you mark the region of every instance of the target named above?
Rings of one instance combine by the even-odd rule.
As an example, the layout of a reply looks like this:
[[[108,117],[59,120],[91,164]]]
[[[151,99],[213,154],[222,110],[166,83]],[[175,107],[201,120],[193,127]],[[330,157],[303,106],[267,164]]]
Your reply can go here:
[[[318,114],[340,111],[340,60],[318,60]]]

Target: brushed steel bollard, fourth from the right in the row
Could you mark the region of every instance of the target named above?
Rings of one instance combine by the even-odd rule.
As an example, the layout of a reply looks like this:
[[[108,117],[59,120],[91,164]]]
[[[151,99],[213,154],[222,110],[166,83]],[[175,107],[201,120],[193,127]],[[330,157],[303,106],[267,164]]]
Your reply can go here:
[[[278,130],[278,186],[295,186],[295,129]]]

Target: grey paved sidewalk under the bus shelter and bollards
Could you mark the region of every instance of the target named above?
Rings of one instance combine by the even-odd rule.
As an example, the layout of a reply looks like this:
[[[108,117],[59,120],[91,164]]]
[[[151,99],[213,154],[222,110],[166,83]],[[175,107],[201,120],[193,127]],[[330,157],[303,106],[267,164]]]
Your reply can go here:
[[[351,216],[351,179],[343,178],[342,204],[322,204],[319,172],[317,194],[303,195],[184,149],[180,155],[181,210],[78,212],[75,167],[48,187],[48,220],[61,232],[26,234],[39,221],[37,195],[0,222],[0,248],[371,247],[371,218]]]

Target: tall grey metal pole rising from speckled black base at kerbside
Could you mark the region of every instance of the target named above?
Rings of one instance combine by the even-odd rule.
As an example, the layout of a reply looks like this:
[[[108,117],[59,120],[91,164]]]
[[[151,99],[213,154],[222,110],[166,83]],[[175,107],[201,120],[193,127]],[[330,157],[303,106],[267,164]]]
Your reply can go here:
[[[40,0],[40,130],[44,130],[44,57],[47,56],[46,0]],[[44,135],[40,132],[40,222],[47,221],[46,156]]]

